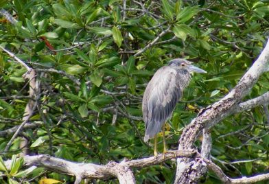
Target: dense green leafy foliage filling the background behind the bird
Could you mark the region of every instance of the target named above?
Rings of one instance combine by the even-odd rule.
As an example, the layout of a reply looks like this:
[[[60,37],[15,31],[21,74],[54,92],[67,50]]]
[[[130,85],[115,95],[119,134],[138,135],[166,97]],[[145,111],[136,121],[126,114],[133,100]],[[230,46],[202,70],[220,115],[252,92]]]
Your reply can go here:
[[[176,149],[185,125],[201,108],[235,87],[269,33],[265,0],[0,2],[17,20],[11,23],[1,16],[0,44],[36,69],[38,81],[34,95],[38,103],[29,121],[36,126],[22,130],[4,151],[14,132],[3,135],[1,131],[23,122],[25,106],[33,96],[29,96],[29,81],[22,77],[25,67],[0,52],[0,154],[4,160],[23,151],[100,164],[152,155],[152,146],[143,142],[145,85],[171,58],[187,58],[208,73],[194,75],[166,127],[168,147]],[[248,98],[268,91],[268,81],[266,73]],[[268,106],[257,107],[212,128],[212,160],[227,175],[250,176],[268,170],[266,112]],[[22,137],[27,140],[24,147]],[[175,168],[168,161],[134,174],[137,183],[172,183]],[[42,168],[16,176],[22,170],[1,171],[0,182],[35,176],[32,183],[45,176],[73,181],[71,176]],[[217,181],[209,172],[201,182]]]

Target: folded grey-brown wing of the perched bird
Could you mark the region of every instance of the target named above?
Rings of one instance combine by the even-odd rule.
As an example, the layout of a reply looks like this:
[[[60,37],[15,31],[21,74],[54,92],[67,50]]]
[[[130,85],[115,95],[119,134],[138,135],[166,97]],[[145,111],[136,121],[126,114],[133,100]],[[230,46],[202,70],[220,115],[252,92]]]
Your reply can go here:
[[[176,69],[162,67],[152,77],[143,95],[145,141],[160,132],[182,95]]]

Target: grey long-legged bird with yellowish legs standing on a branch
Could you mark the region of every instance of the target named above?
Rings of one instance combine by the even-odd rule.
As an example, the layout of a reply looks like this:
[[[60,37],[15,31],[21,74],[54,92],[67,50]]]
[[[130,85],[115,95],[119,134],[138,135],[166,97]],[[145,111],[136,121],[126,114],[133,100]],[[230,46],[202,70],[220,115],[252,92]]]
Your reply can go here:
[[[190,80],[191,73],[207,73],[191,65],[183,58],[170,60],[167,66],[158,69],[143,94],[142,113],[145,122],[144,141],[154,138],[154,156],[157,153],[156,135],[163,129],[163,155],[165,146],[165,123],[172,116],[176,103],[183,96]]]

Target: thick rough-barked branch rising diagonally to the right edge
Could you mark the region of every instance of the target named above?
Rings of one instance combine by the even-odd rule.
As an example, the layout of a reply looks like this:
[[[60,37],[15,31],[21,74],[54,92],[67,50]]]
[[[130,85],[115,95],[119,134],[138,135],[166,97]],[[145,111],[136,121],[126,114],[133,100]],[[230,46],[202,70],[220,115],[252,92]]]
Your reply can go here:
[[[259,79],[262,73],[268,70],[269,65],[269,41],[261,52],[259,58],[254,62],[253,66],[241,78],[236,87],[228,93],[222,100],[215,102],[212,106],[203,109],[198,117],[196,117],[191,124],[184,130],[179,139],[178,150],[190,149],[194,141],[201,135],[204,128],[211,128],[225,117],[236,112],[239,102],[249,93],[254,84]],[[197,175],[195,169],[186,168],[189,165],[190,159],[178,159],[177,173],[175,183],[193,183],[191,179],[192,172]]]

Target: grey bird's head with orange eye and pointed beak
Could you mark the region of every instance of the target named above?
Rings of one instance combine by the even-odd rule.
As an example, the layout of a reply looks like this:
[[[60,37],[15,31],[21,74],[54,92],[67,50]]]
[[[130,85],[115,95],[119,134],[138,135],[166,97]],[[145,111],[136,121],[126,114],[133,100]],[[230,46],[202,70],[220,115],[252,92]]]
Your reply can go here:
[[[177,67],[178,69],[187,70],[189,73],[191,73],[191,72],[207,73],[207,71],[204,71],[203,69],[195,67],[194,65],[191,65],[191,64],[192,64],[192,62],[190,62],[189,60],[177,58],[174,60],[170,60],[168,63],[168,66]]]

